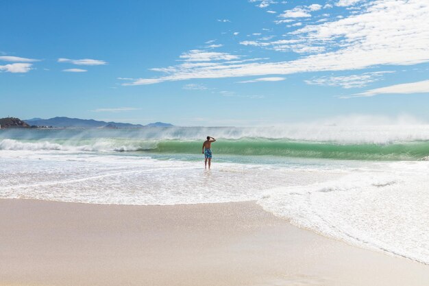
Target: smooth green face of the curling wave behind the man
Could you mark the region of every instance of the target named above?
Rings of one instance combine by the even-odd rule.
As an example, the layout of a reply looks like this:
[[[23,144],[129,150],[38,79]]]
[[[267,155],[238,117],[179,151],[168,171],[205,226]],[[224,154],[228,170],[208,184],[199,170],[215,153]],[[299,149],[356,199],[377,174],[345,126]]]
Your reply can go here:
[[[161,141],[156,153],[201,153],[201,141]],[[302,158],[333,158],[347,160],[419,160],[429,156],[429,142],[348,144],[311,143],[270,139],[222,140],[212,143],[214,154],[247,156],[289,156]]]

